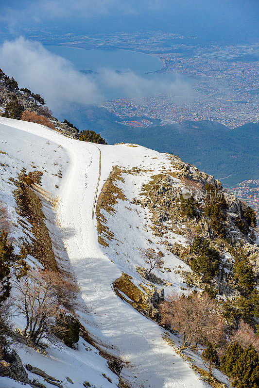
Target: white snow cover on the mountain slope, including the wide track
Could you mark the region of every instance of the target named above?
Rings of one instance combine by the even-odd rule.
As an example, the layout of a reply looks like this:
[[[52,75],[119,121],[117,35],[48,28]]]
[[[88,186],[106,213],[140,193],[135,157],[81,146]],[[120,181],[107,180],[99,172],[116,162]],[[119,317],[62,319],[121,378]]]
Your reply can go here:
[[[132,203],[151,176],[170,169],[173,172],[168,155],[142,146],[97,146],[65,137],[38,124],[2,117],[0,134],[0,151],[6,153],[0,154],[4,164],[1,168],[1,192],[4,194],[0,199],[8,204],[17,224],[12,194],[14,187],[7,179],[11,174],[17,178],[23,167],[27,173],[43,172],[41,188],[45,197],[48,192],[48,196],[56,199],[55,222],[43,201],[46,225],[52,230],[52,235],[60,235],[69,259],[66,261],[66,254],[60,252],[58,266],[74,273],[81,292],[78,317],[100,347],[122,359],[123,379],[132,388],[207,387],[188,362],[164,341],[164,330],[119,298],[112,287],[122,273],[132,276],[135,284],[143,283],[136,271],[136,266],[144,264],[139,249],[146,249],[150,244],[163,253],[165,267],[172,270],[163,273],[163,279],[167,281],[167,285],[163,285],[165,292],[182,292],[179,287],[185,285],[181,275],[173,270],[180,266],[188,271],[189,267],[160,245],[157,236],[152,234],[148,210],[139,209]],[[108,246],[104,246],[98,242],[96,199],[114,166],[120,166],[122,180],[116,184],[125,198],[124,201],[118,198],[114,206],[116,216],[100,209],[106,226],[114,235],[111,240],[106,239]],[[62,178],[57,176],[59,170]],[[177,179],[174,179],[177,184]],[[24,237],[19,225],[15,229],[15,238],[18,237]],[[155,272],[155,275],[161,277],[162,274]],[[16,317],[15,324],[22,327],[21,318]],[[172,339],[177,344],[176,337],[172,336]],[[60,381],[69,376],[74,387],[83,387],[84,381],[96,388],[115,387],[118,384],[116,375],[108,369],[95,348],[86,344],[89,348],[86,352],[84,343],[80,339],[78,350],[65,345],[62,350],[50,346],[48,356],[35,355],[35,351],[27,353],[22,349],[18,349],[18,353],[23,364],[33,364]],[[0,386],[9,387],[6,381],[0,377]],[[41,378],[39,381],[52,387]],[[68,381],[66,386],[72,387]]]

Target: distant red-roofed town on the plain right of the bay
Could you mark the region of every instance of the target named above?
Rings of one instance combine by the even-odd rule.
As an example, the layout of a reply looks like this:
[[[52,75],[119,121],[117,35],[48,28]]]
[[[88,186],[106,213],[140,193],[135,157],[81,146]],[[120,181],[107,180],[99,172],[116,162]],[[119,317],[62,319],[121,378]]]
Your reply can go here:
[[[162,34],[161,39],[166,39]],[[167,39],[169,39],[167,37]],[[180,41],[187,38],[172,37]],[[189,41],[194,38],[188,38]],[[146,44],[145,44],[146,43]],[[172,124],[183,120],[213,120],[229,128],[248,121],[258,122],[259,97],[259,45],[209,46],[172,43],[171,51],[160,47],[154,49],[148,39],[138,49],[159,57],[163,67],[157,73],[176,73],[191,81],[192,95],[181,101],[177,95],[119,98],[106,101],[101,106],[123,118],[145,115],[160,119],[161,124]],[[131,45],[133,43],[131,42]],[[126,125],[146,127],[147,123],[126,122]]]

